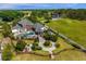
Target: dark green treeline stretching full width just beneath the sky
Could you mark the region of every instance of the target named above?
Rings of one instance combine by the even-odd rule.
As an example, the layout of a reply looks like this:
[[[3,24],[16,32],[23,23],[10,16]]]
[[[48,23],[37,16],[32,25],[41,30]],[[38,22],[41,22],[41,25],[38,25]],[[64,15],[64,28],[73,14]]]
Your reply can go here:
[[[22,11],[22,12],[21,12]],[[0,11],[0,17],[2,21],[11,22],[14,18],[24,16],[23,10],[3,10]],[[60,14],[60,17],[69,17],[73,20],[86,20],[86,9],[58,9],[58,10],[24,10],[32,11],[30,16],[28,17],[32,21],[38,21],[38,17],[44,17],[49,21],[52,18],[51,14]]]

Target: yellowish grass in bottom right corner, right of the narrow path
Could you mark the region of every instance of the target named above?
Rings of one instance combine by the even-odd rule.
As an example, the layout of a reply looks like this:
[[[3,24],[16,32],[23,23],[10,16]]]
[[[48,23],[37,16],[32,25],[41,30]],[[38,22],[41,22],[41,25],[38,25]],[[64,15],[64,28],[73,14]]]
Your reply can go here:
[[[54,56],[54,61],[86,61],[86,53],[77,50],[66,50]]]

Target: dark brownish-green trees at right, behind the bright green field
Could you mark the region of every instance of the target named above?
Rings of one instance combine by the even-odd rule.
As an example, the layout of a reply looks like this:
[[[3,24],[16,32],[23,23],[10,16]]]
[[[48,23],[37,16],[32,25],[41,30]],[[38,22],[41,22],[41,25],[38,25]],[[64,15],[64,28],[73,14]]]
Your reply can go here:
[[[86,9],[62,9],[57,10],[58,13],[62,15],[62,17],[69,17],[73,20],[86,20]]]

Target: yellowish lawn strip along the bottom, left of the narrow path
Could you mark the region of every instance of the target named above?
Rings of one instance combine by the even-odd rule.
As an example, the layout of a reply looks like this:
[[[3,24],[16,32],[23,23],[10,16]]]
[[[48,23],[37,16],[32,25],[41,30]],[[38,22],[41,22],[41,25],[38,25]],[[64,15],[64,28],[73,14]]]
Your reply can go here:
[[[35,54],[17,54],[13,61],[47,61],[49,56],[40,56]]]

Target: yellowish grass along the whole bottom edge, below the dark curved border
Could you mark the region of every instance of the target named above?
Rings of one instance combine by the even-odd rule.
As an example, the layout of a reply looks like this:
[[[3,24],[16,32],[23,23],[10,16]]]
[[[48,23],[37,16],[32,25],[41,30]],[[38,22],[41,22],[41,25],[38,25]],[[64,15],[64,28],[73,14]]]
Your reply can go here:
[[[35,54],[17,54],[12,61],[86,61],[86,54],[77,50],[66,50],[54,55],[53,60]]]

